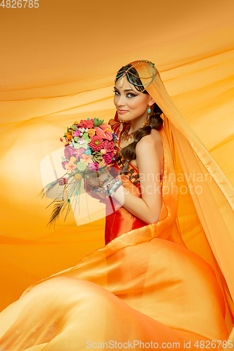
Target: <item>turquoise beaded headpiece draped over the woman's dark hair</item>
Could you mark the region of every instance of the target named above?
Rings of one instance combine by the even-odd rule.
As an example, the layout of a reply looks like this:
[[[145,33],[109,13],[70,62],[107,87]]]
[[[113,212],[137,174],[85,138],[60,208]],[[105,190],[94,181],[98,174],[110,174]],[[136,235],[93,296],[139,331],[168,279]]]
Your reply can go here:
[[[133,65],[132,65],[132,63],[133,63]],[[148,65],[150,65],[152,67],[152,76],[150,76],[150,77],[138,77],[138,75],[130,72],[131,68],[134,68],[136,65],[141,65],[141,63],[148,63]],[[120,79],[119,80],[119,88],[121,88],[123,86],[123,84],[124,84],[124,77],[126,76],[126,77],[128,77],[129,82],[131,84],[134,84],[134,86],[142,86],[143,87],[143,90],[141,91],[141,93],[142,93],[143,91],[145,91],[148,88],[148,86],[150,86],[150,84],[152,83],[153,79],[155,79],[155,76],[157,74],[157,69],[155,67],[155,64],[150,62],[150,61],[148,61],[148,60],[140,60],[140,61],[137,61],[136,63],[130,62],[129,65],[131,65],[131,67],[129,67],[126,70],[119,71],[117,73],[117,75],[115,77],[115,81],[118,81]],[[134,77],[137,77],[137,78],[140,78],[141,81],[142,81],[142,79],[150,79],[150,80],[147,81],[145,84],[143,84],[143,83],[142,84],[136,84],[136,83],[134,83],[131,80],[130,75],[134,76]]]

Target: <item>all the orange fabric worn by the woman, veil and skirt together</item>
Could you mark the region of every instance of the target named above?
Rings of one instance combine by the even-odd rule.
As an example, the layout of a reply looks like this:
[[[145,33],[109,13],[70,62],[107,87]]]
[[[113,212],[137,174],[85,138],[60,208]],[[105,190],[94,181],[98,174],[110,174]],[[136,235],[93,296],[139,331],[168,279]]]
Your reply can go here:
[[[136,69],[150,76],[146,65]],[[122,229],[108,238],[107,222],[106,246],[30,286],[1,312],[0,350],[86,350],[88,341],[104,350],[110,340],[201,350],[202,341],[233,340],[233,187],[174,107],[159,73],[148,92],[164,111],[160,220],[134,228],[131,213],[119,211]],[[182,191],[189,185],[202,192]],[[127,232],[118,236],[124,223]]]

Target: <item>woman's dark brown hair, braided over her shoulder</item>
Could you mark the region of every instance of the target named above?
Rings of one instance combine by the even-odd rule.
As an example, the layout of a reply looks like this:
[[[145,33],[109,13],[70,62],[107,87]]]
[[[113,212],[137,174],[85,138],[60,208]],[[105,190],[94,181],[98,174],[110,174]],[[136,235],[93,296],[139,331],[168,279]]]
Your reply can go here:
[[[124,71],[131,67],[131,65],[126,65],[119,69],[116,75],[115,82],[122,76]],[[132,74],[126,74],[126,79],[129,81],[130,84],[133,84],[136,90],[139,92],[143,91],[144,87],[142,85],[141,79],[139,78],[138,72],[134,67],[130,68],[129,73]],[[130,77],[129,77],[130,76]],[[148,94],[148,91],[143,91],[143,94]],[[124,173],[129,169],[129,161],[131,159],[136,159],[136,145],[137,143],[145,136],[149,135],[151,132],[151,129],[157,129],[157,131],[160,130],[163,124],[163,119],[160,117],[160,114],[162,114],[162,110],[160,107],[156,104],[156,102],[153,105],[153,114],[150,116],[150,121],[149,125],[145,127],[138,128],[136,131],[134,131],[133,137],[134,137],[134,142],[123,147],[121,150],[121,154],[126,159],[126,164],[124,168],[122,168],[122,171],[120,174]]]

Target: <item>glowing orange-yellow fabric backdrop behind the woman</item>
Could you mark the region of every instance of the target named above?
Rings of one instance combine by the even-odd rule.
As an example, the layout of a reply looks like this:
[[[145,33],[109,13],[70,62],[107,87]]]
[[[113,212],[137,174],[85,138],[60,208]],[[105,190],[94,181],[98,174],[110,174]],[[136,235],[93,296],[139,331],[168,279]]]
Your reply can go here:
[[[88,7],[89,6],[89,7]],[[40,162],[81,118],[114,116],[115,72],[155,62],[184,118],[234,185],[233,1],[126,6],[39,0],[1,8],[0,310],[27,286],[104,245],[104,219],[46,228]],[[150,9],[150,11],[149,11]],[[154,14],[155,12],[155,14]],[[149,15],[150,13],[150,15]]]

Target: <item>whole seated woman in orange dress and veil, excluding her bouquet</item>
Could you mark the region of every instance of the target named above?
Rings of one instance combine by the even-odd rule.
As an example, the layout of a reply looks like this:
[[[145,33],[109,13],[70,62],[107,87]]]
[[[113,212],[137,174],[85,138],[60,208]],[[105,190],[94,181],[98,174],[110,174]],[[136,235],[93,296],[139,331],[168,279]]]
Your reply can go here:
[[[115,106],[106,245],[6,307],[0,350],[233,350],[233,187],[151,62],[119,70]]]

